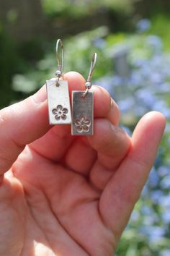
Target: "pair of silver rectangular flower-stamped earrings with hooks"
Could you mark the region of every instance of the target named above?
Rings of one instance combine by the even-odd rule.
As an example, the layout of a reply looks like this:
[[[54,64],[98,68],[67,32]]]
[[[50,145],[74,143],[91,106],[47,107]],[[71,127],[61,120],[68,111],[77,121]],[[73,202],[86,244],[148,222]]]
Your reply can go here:
[[[61,61],[58,54],[58,46],[61,46]],[[64,52],[61,39],[56,43],[56,57],[58,70],[56,79],[46,81],[48,93],[48,114],[50,124],[71,124],[71,135],[94,134],[94,93],[91,88],[91,77],[97,61],[97,54],[92,56],[89,76],[85,83],[85,90],[72,91],[72,114],[68,92],[68,82],[61,80],[64,71]]]

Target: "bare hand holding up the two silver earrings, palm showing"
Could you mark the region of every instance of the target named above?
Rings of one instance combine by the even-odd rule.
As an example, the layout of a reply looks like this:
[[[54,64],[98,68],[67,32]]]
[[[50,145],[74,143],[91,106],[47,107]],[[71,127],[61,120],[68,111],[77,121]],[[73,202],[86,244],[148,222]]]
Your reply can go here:
[[[65,74],[71,90],[84,78]],[[133,137],[109,93],[94,90],[94,136],[50,127],[46,90],[0,111],[0,255],[111,256],[146,183],[165,118],[150,112]],[[5,175],[4,175],[5,173]]]

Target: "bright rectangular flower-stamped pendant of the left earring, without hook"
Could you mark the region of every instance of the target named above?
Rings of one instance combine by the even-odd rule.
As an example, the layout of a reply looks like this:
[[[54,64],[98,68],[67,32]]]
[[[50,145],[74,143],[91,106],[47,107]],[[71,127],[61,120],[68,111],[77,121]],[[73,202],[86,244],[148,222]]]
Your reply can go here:
[[[71,105],[68,82],[56,80],[46,81],[48,93],[48,115],[50,124],[71,124]]]

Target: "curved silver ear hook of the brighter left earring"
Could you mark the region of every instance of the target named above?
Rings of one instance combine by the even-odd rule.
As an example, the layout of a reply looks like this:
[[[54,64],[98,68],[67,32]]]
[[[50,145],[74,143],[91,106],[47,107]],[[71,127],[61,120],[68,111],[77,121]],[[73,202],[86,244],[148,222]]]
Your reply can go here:
[[[60,59],[60,56],[58,54],[58,46],[61,46],[61,59]],[[55,75],[56,77],[58,77],[58,80],[57,80],[57,84],[58,85],[58,81],[60,79],[60,77],[63,77],[63,72],[64,72],[64,50],[63,50],[63,42],[61,39],[58,39],[57,40],[57,43],[56,43],[56,58],[57,58],[57,61],[58,61],[58,70],[55,72]]]

